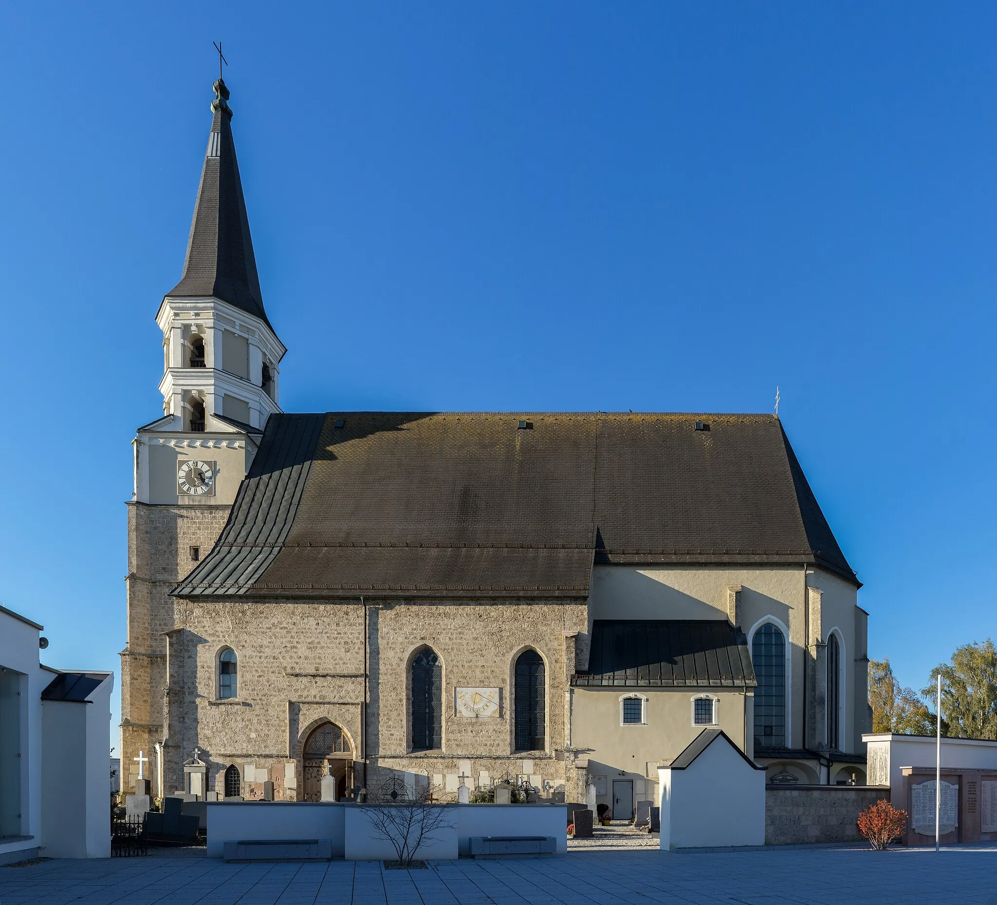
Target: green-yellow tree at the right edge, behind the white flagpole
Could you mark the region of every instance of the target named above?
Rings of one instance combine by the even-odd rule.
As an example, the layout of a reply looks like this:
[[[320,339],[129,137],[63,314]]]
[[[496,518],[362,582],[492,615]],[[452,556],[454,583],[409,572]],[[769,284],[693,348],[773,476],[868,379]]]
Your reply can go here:
[[[925,700],[934,700],[939,674],[943,733],[956,739],[997,739],[997,649],[993,641],[964,644],[952,654],[950,664],[941,663],[931,670],[931,684],[921,691]]]

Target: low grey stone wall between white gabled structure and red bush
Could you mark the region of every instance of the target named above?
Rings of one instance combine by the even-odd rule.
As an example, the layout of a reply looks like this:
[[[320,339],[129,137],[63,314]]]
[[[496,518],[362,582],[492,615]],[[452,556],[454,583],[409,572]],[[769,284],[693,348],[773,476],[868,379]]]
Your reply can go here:
[[[769,785],[765,790],[765,844],[799,845],[861,839],[858,814],[889,789],[870,785]]]

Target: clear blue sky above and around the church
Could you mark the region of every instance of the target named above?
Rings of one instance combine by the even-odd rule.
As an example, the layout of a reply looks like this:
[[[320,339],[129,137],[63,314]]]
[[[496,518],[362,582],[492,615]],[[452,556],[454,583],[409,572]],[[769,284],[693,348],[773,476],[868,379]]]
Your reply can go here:
[[[779,385],[869,653],[920,687],[994,633],[995,26],[4,4],[0,602],[48,663],[119,672],[130,441],[161,411],[220,38],[285,409],[768,412]]]

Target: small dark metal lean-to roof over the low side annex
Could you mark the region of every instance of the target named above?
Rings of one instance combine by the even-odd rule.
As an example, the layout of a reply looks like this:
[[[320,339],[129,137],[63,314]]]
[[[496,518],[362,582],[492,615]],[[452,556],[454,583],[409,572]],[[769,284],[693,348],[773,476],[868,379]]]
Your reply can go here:
[[[710,687],[757,685],[744,634],[706,619],[596,619],[588,670],[578,687]]]

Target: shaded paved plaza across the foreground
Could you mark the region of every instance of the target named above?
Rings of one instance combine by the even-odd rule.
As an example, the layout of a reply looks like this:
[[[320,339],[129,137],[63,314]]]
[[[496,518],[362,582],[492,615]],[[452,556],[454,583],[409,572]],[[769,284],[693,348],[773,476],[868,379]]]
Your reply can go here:
[[[651,902],[953,902],[997,905],[997,846],[880,853],[858,848],[663,855],[648,849],[551,858],[226,864],[213,858],[54,860],[0,867],[0,905],[634,905]]]

